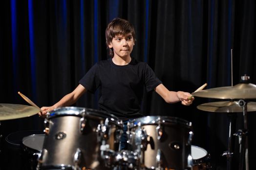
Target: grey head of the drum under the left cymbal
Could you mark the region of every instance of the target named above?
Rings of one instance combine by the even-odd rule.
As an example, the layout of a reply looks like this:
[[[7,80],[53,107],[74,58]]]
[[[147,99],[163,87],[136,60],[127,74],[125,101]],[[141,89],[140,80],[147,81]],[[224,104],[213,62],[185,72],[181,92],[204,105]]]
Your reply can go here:
[[[30,135],[22,139],[22,144],[36,151],[42,151],[44,135]]]

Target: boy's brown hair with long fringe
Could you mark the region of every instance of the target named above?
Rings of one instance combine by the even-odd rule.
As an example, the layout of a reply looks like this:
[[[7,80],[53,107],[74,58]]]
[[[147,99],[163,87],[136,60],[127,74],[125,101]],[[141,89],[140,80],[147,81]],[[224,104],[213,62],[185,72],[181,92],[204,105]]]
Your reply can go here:
[[[128,20],[117,17],[108,23],[106,28],[106,44],[107,44],[107,50],[111,57],[114,56],[114,52],[113,52],[113,49],[110,49],[108,47],[108,45],[112,42],[115,36],[127,35],[127,34],[132,34],[133,39],[136,40],[134,27],[132,26],[131,23],[129,23]]]

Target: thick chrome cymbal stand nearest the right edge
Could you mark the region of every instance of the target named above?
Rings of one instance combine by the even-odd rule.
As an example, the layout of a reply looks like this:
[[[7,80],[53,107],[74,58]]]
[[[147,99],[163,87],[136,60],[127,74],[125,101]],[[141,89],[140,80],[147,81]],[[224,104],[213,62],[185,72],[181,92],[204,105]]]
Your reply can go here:
[[[239,100],[238,104],[243,108],[244,129],[239,129],[235,136],[239,137],[239,170],[243,170],[245,157],[245,170],[249,170],[248,161],[248,125],[247,125],[247,102]]]

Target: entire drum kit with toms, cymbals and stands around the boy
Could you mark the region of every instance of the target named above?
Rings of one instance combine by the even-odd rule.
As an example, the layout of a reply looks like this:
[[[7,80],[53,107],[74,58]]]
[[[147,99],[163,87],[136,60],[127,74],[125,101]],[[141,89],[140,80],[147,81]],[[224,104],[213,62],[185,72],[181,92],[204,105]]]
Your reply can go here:
[[[239,170],[248,170],[247,112],[256,111],[256,85],[200,90],[195,97],[228,99],[210,102],[197,108],[207,112],[243,112],[244,129],[239,137]],[[0,121],[37,114],[39,107],[0,104]],[[206,150],[192,145],[192,123],[165,116],[146,116],[124,123],[112,114],[84,107],[60,107],[48,112],[44,134],[24,136],[21,141],[23,158],[28,170],[209,170]],[[230,121],[230,126],[232,123]],[[121,138],[127,136],[127,149],[121,149]],[[228,142],[227,166],[233,156],[231,132]]]

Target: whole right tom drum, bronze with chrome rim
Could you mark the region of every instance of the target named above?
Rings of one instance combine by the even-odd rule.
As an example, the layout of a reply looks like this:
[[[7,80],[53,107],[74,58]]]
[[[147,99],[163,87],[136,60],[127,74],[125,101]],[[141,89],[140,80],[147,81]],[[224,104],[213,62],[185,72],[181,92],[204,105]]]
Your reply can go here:
[[[192,123],[174,117],[147,116],[128,125],[130,150],[140,155],[142,170],[190,170],[192,135]]]

